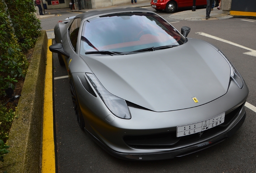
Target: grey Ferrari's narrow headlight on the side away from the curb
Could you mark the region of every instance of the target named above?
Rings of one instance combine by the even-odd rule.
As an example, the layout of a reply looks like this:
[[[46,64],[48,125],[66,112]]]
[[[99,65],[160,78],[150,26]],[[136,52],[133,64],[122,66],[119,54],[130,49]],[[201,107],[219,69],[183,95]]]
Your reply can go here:
[[[233,66],[233,64],[228,60],[228,58],[223,54],[223,52],[221,52],[221,50],[218,51],[229,63],[230,66],[230,77],[231,80],[237,85],[237,87],[239,87],[240,89],[243,88],[244,86],[244,81],[242,76],[239,74],[239,72],[237,71],[237,69],[235,69],[235,67]]]

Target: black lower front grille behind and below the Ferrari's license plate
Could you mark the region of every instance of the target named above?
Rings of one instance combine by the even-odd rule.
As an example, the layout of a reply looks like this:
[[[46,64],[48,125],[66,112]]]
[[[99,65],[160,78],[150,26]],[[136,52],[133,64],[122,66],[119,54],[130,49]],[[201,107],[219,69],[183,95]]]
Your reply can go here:
[[[137,149],[164,149],[197,141],[203,137],[214,136],[215,134],[219,133],[219,131],[223,131],[225,128],[227,128],[227,126],[233,121],[233,119],[235,119],[235,117],[239,115],[239,112],[241,111],[243,106],[244,104],[227,113],[225,115],[225,122],[223,124],[203,131],[202,135],[196,133],[184,137],[176,137],[175,131],[152,135],[125,136],[124,142],[128,146]]]

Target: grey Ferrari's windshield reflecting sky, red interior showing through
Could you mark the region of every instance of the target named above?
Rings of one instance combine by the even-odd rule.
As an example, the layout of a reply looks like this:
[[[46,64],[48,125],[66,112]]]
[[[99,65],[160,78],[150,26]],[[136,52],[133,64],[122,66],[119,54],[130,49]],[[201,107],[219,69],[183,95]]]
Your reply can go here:
[[[84,22],[80,54],[94,51],[128,53],[159,46],[178,46],[184,42],[185,38],[157,14],[117,13]]]

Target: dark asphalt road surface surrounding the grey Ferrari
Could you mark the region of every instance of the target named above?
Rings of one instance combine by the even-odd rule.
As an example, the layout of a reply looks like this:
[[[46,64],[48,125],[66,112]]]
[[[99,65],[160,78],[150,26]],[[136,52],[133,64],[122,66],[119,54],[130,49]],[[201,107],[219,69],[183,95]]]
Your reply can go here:
[[[151,8],[152,9],[152,8]],[[53,32],[59,20],[76,14],[58,9],[55,16],[41,20],[42,28]],[[152,9],[153,10],[153,9]],[[63,12],[63,13],[62,13]],[[225,53],[242,74],[250,90],[247,102],[256,106],[256,57],[230,42],[256,50],[256,22],[244,18],[210,21],[169,19],[169,14],[159,13],[175,28],[191,28],[188,37],[210,42]],[[197,34],[203,32],[230,41],[222,42]],[[253,173],[256,172],[256,113],[246,108],[247,117],[242,127],[231,138],[213,147],[184,157],[163,161],[124,161],[112,157],[101,149],[76,123],[69,80],[66,69],[59,65],[54,54],[54,113],[56,122],[56,148],[60,173]]]

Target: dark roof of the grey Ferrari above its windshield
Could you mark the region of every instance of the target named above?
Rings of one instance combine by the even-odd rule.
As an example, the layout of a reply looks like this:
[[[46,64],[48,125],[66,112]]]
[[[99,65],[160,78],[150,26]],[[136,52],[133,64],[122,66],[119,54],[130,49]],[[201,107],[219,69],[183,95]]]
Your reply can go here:
[[[111,9],[111,10],[93,10],[89,12],[85,12],[83,14],[77,15],[75,18],[81,18],[82,20],[84,18],[88,18],[91,16],[97,16],[100,14],[106,14],[106,13],[118,13],[118,12],[129,12],[129,11],[141,11],[141,12],[152,12],[150,10],[147,10],[145,8],[138,8],[138,7],[128,7],[128,8],[117,8],[117,9]]]

